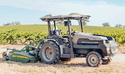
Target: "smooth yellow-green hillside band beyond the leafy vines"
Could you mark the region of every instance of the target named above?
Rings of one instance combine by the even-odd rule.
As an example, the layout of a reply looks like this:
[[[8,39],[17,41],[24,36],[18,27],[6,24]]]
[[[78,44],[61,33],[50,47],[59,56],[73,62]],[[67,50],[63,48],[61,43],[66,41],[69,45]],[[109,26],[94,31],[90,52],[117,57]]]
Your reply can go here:
[[[63,25],[58,25],[58,29],[62,31],[66,31],[68,27],[64,27]],[[71,26],[73,30],[81,31],[80,25],[73,25]],[[48,32],[47,25],[17,25],[17,26],[0,26],[0,32],[8,31],[11,29],[17,29],[17,32]],[[52,25],[53,29],[53,25]],[[93,32],[102,32],[102,31],[118,31],[118,30],[125,30],[125,28],[114,28],[114,27],[97,27],[97,26],[86,26],[84,28],[85,32],[93,33]]]

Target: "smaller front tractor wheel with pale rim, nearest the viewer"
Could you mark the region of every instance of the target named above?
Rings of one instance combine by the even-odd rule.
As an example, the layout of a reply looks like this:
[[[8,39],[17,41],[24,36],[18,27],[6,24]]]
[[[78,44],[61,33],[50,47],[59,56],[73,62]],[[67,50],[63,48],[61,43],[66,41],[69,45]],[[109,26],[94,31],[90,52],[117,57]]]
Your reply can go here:
[[[86,57],[86,62],[91,67],[97,67],[102,64],[102,57],[96,51],[91,51]]]

